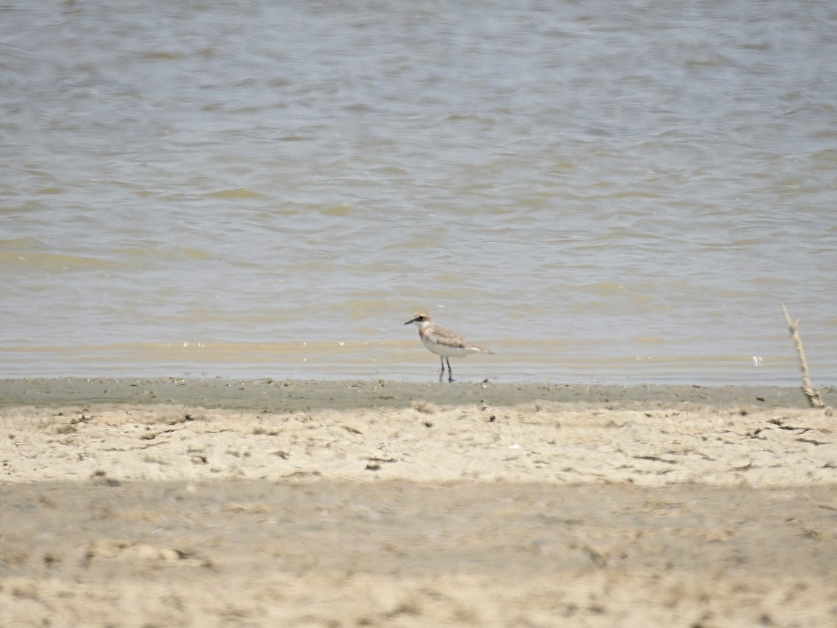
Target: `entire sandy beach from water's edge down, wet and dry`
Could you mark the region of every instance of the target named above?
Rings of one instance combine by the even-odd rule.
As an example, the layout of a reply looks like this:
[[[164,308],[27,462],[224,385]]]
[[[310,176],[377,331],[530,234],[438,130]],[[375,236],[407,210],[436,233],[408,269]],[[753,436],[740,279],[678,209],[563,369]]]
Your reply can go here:
[[[796,389],[0,380],[0,625],[835,626],[835,429]]]

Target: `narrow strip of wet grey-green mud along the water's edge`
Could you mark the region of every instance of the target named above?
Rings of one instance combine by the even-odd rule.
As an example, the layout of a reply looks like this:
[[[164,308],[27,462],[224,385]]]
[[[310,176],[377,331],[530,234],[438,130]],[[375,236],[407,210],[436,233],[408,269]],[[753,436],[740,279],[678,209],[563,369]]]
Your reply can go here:
[[[823,390],[826,400],[834,389]],[[432,404],[511,407],[537,401],[561,404],[744,405],[807,408],[798,387],[666,384],[413,383],[376,380],[255,380],[226,378],[5,378],[0,407],[66,404],[183,404],[207,409],[289,413],[321,409],[403,408]]]

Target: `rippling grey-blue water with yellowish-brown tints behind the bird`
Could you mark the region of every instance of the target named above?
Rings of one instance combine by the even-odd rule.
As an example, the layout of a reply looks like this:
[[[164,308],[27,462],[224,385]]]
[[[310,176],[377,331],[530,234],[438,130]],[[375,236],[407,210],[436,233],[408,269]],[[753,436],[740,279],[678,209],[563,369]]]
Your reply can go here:
[[[0,8],[0,371],[837,383],[831,2]]]

